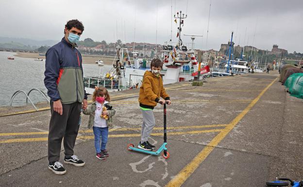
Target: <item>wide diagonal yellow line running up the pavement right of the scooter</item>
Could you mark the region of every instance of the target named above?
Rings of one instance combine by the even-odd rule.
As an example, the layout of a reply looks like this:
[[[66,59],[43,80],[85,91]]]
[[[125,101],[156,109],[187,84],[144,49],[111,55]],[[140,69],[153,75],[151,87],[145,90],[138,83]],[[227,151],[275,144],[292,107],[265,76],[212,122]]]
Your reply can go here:
[[[276,81],[272,81],[224,130],[222,130],[195,158],[188,163],[165,187],[181,187],[187,178],[199,167],[205,158],[215,149],[222,139],[236,126],[236,124],[253,108],[256,102],[263,96],[269,87]]]

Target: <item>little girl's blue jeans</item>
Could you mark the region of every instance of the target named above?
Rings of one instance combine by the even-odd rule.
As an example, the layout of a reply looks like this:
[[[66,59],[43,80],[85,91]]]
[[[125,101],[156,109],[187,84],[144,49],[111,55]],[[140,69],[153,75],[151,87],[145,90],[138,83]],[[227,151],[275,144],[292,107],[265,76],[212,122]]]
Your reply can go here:
[[[108,127],[93,127],[95,136],[95,148],[96,152],[100,153],[101,150],[105,150],[107,138],[108,138]],[[101,140],[101,148],[100,148]]]

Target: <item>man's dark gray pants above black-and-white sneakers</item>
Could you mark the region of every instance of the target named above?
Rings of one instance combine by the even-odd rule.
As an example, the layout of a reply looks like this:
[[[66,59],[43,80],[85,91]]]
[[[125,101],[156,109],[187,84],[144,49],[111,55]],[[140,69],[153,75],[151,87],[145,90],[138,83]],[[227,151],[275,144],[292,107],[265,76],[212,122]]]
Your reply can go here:
[[[82,104],[74,102],[62,104],[62,116],[53,110],[53,102],[50,104],[50,129],[48,139],[48,158],[50,162],[60,159],[62,138],[65,155],[67,157],[74,154],[74,146],[79,130],[79,118]]]

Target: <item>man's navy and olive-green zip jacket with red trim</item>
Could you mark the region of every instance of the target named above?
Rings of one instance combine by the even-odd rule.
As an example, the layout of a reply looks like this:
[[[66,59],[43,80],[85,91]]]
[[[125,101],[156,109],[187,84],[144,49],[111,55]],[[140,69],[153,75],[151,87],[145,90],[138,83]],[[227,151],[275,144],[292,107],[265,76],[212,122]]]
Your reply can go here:
[[[83,84],[82,56],[65,38],[46,52],[44,85],[51,101],[62,104],[87,99]]]

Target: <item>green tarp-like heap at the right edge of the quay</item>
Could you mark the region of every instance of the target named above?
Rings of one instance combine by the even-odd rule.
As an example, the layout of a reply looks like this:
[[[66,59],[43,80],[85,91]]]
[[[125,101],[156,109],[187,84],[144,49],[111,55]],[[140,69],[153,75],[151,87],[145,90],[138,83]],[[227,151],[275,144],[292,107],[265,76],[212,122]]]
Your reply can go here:
[[[303,99],[303,73],[290,75],[284,85],[291,96]]]

